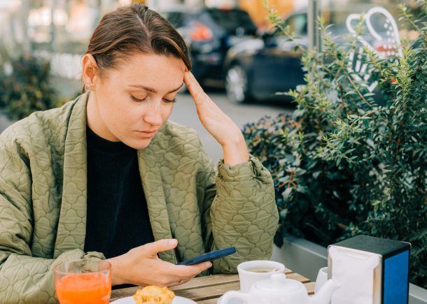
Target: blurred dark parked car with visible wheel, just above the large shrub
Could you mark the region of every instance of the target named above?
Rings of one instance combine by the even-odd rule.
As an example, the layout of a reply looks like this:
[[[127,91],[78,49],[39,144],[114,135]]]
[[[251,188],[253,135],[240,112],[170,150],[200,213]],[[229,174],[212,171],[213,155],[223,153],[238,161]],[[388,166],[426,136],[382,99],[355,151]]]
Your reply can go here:
[[[291,15],[285,22],[300,35],[300,43],[307,45],[307,13]],[[274,94],[304,84],[302,52],[295,52],[295,43],[287,39],[276,30],[230,48],[223,71],[225,90],[231,102],[286,99]]]

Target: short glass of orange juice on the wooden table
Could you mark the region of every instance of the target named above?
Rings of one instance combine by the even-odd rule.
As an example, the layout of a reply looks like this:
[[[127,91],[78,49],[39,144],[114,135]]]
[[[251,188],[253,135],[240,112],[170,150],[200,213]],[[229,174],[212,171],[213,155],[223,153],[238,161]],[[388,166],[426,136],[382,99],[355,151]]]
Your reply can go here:
[[[111,296],[111,264],[78,259],[57,264],[55,289],[59,304],[108,304]]]

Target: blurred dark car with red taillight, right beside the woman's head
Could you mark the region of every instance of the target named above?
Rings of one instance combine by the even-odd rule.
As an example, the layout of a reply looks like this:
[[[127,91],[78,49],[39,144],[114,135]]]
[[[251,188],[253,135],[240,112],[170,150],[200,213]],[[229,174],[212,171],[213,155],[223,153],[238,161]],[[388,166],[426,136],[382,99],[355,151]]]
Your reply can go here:
[[[248,13],[238,8],[195,8],[176,4],[158,11],[186,41],[193,74],[199,82],[223,80],[227,51],[237,43],[253,38],[257,31]]]

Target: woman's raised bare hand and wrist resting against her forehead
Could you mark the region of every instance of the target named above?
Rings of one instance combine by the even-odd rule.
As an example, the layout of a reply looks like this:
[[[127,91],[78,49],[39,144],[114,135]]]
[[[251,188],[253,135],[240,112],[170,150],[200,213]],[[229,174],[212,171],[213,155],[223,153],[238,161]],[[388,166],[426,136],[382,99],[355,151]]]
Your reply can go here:
[[[207,96],[189,71],[184,82],[193,96],[200,122],[223,147],[224,163],[235,166],[248,161],[248,149],[239,127]]]

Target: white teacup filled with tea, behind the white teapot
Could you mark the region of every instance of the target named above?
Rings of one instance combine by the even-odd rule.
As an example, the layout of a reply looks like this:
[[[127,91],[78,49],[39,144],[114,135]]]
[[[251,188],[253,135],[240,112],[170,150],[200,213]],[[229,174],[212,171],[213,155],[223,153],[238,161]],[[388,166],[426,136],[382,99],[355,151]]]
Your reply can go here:
[[[285,273],[285,266],[282,263],[277,263],[274,261],[248,261],[239,264],[237,266],[237,271],[239,272],[240,280],[240,291],[249,292],[253,283],[260,280],[268,280],[273,272],[271,273],[255,273],[253,271],[247,271],[246,269],[251,268],[275,268],[277,269],[274,273]]]

